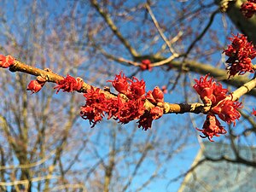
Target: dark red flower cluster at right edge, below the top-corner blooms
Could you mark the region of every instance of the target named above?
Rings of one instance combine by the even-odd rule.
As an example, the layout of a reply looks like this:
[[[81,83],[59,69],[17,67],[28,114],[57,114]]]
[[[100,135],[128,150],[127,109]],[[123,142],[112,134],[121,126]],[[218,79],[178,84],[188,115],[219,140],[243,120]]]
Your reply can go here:
[[[226,62],[230,77],[235,76],[236,73],[239,75],[247,72],[254,73],[252,60],[256,57],[255,47],[243,34],[233,35],[233,37],[229,38],[232,44],[224,50],[225,55],[229,56]]]

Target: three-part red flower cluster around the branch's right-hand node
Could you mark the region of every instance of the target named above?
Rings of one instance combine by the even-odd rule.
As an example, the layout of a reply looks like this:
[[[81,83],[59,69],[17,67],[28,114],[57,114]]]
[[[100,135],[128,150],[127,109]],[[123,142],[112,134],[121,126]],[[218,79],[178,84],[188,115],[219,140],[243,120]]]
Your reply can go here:
[[[232,96],[228,95],[228,90],[212,78],[208,79],[208,75],[201,77],[199,80],[195,79],[195,83],[193,87],[201,97],[202,102],[210,107],[202,130],[197,130],[212,141],[213,136],[218,137],[219,134],[226,133],[224,126],[220,125],[215,115],[218,115],[219,119],[228,124],[236,125],[236,119],[241,117],[241,114],[237,111],[238,108],[241,108],[241,102],[231,101]]]

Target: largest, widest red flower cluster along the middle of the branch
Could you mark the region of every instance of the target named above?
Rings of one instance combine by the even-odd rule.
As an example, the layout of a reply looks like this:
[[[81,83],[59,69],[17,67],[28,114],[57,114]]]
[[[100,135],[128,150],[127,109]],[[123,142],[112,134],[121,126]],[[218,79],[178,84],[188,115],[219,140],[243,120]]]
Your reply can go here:
[[[143,130],[151,127],[154,119],[159,119],[163,114],[163,108],[158,106],[147,110],[146,99],[157,104],[164,102],[164,95],[160,88],[145,91],[145,82],[133,77],[129,79],[125,74],[119,73],[114,80],[109,80],[113,88],[119,92],[118,96],[106,96],[100,89],[90,87],[84,93],[86,103],[81,107],[80,115],[89,119],[91,127],[108,115],[108,119],[119,120],[119,123],[126,124],[131,120],[138,119],[138,126]],[[110,98],[109,98],[110,97]]]

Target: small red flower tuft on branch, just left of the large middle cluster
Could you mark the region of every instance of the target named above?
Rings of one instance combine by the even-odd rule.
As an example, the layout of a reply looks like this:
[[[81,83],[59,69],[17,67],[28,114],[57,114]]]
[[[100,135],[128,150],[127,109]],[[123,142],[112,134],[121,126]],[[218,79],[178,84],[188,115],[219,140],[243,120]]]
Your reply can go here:
[[[83,79],[81,78],[76,78],[74,79],[72,76],[70,76],[69,74],[67,74],[67,78],[64,78],[63,80],[61,80],[60,82],[58,82],[54,89],[58,89],[57,90],[57,94],[60,90],[62,90],[63,92],[67,91],[67,92],[72,92],[73,90],[80,90],[83,86]]]

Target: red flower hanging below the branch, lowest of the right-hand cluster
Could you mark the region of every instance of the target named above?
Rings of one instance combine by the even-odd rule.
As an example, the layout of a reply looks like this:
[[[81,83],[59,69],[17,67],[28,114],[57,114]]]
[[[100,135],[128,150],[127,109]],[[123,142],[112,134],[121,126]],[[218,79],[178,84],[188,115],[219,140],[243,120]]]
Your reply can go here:
[[[225,134],[224,126],[220,125],[218,119],[215,115],[207,114],[207,119],[202,127],[202,129],[195,128],[198,131],[201,131],[204,136],[207,137],[211,142],[213,142],[212,137],[219,137],[219,134]]]

